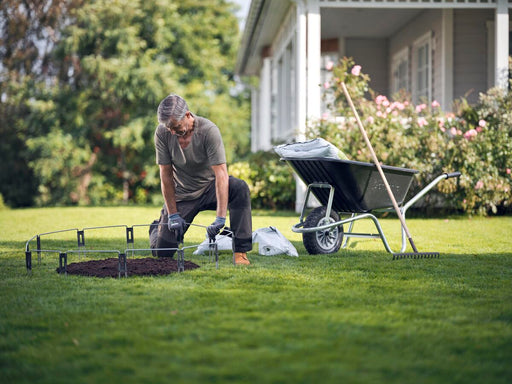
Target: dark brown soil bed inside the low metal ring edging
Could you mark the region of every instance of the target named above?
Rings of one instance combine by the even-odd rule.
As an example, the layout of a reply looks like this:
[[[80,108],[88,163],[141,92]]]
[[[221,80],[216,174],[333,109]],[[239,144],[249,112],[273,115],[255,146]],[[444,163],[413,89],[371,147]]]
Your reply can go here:
[[[199,268],[199,265],[185,260],[185,271],[196,268]],[[168,257],[146,257],[139,259],[127,258],[126,270],[128,276],[168,275],[173,272],[178,272],[178,261]],[[89,260],[79,263],[71,263],[67,265],[66,271],[70,275],[118,277],[119,259],[111,258],[105,260]],[[57,268],[57,272],[60,272],[59,268]]]

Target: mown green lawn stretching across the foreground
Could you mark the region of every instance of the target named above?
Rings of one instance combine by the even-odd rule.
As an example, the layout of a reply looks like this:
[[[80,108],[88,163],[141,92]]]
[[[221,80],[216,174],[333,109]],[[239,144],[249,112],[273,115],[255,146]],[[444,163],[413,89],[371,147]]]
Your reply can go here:
[[[254,228],[276,226],[298,258],[255,246],[250,267],[222,253],[216,269],[189,252],[201,268],[99,279],[58,275],[58,256],[44,254],[26,271],[36,234],[146,224],[158,211],[0,211],[0,383],[512,382],[512,217],[409,219],[419,250],[441,257],[393,261],[376,240],[310,256],[290,229],[298,215],[258,211]],[[397,248],[398,220],[381,222]],[[119,248],[123,231],[86,240]],[[146,233],[135,230],[136,247]],[[186,241],[203,238],[194,228]],[[74,242],[60,233],[43,247]]]

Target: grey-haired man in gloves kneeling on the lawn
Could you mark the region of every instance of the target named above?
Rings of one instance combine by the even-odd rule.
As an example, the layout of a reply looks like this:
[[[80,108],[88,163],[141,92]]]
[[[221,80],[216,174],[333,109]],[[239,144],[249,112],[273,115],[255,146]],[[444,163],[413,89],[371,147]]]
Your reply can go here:
[[[235,264],[249,265],[252,249],[251,196],[245,181],[228,176],[226,154],[219,128],[189,111],[178,95],[167,96],[158,106],[155,131],[156,162],[164,207],[154,248],[177,248],[194,217],[216,210],[206,232],[220,233],[229,208]],[[163,224],[163,225],[162,225]],[[172,257],[174,251],[155,251]]]

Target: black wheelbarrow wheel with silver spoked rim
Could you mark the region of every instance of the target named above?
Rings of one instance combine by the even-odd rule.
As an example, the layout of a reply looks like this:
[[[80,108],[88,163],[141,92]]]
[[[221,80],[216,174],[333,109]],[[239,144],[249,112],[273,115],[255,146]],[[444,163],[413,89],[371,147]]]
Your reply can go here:
[[[330,217],[326,218],[326,211],[326,207],[313,209],[308,217],[306,217],[304,228],[319,227],[340,220],[339,215],[334,211],[331,211]],[[302,234],[302,242],[310,255],[336,253],[340,249],[342,241],[343,226],[341,225],[322,231]]]

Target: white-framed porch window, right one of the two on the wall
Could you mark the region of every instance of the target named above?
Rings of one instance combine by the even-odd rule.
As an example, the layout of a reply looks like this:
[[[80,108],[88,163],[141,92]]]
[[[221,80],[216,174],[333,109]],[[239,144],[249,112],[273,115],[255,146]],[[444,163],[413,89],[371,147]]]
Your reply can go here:
[[[423,52],[422,52],[423,51]],[[425,54],[425,57],[418,57]],[[424,58],[422,62],[420,60]],[[412,46],[412,100],[414,103],[432,101],[432,32],[429,31]]]

